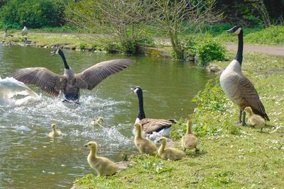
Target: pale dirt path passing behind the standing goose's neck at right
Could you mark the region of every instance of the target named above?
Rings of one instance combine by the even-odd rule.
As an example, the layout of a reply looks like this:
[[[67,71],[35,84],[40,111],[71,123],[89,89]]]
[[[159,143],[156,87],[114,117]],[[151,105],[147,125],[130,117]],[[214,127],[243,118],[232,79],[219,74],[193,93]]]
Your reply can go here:
[[[227,44],[227,50],[237,50],[238,45],[235,44]],[[244,51],[249,52],[260,52],[268,55],[273,55],[276,57],[284,58],[284,47],[279,46],[271,46],[271,45],[244,45]]]

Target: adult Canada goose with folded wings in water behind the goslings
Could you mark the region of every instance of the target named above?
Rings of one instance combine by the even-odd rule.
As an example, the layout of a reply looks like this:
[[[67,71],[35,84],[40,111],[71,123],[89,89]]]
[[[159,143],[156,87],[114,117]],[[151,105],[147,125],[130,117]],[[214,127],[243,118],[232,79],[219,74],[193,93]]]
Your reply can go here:
[[[153,134],[153,132],[158,132],[158,137],[168,137],[170,135],[170,127],[176,123],[176,120],[174,119],[150,119],[146,118],[146,115],[144,113],[143,108],[143,91],[140,86],[136,86],[134,88],[131,88],[133,93],[136,93],[138,96],[138,117],[136,118],[135,123],[140,123],[143,128],[143,132],[145,132],[147,135]],[[149,136],[148,136],[149,137]],[[150,136],[151,138],[151,136]]]

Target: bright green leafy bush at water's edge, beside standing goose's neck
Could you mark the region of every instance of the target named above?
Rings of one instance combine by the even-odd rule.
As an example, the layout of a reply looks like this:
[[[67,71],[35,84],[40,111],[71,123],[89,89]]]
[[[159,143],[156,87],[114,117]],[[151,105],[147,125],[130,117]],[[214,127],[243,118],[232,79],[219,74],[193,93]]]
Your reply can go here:
[[[213,60],[224,60],[226,49],[213,38],[193,39],[187,41],[187,46],[199,58],[199,66],[206,67]]]

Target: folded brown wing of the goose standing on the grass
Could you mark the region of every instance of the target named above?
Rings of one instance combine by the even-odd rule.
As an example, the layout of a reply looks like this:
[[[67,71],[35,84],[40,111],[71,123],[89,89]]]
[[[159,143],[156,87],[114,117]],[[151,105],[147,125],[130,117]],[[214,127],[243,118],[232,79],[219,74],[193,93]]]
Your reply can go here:
[[[254,113],[261,115],[261,117],[266,120],[269,120],[266,110],[259,99],[256,88],[254,88],[251,81],[249,81],[249,79],[245,76],[239,77],[239,91],[241,91],[241,96],[246,100],[246,103],[251,106]]]

